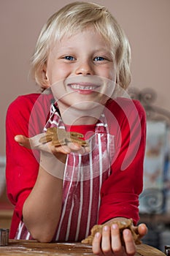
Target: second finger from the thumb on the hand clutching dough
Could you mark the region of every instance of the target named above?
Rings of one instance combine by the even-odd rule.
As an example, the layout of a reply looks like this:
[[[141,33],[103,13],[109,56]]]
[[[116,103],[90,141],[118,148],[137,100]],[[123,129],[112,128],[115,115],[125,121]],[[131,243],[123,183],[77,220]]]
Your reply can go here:
[[[123,255],[123,246],[120,240],[120,230],[117,224],[113,224],[111,227],[111,244],[112,251],[115,255]]]

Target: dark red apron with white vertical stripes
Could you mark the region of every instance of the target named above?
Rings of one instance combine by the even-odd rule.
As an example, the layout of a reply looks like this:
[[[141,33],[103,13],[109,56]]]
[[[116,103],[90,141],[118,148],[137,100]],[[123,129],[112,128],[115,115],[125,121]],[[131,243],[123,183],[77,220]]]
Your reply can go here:
[[[64,129],[63,121],[54,105],[51,107],[45,130],[48,127]],[[101,185],[110,175],[110,165],[115,153],[114,136],[109,135],[104,114],[101,114],[95,133],[88,139],[88,143],[91,148],[89,154],[67,155],[62,211],[54,241],[81,241],[98,222]],[[22,221],[15,239],[32,239]]]

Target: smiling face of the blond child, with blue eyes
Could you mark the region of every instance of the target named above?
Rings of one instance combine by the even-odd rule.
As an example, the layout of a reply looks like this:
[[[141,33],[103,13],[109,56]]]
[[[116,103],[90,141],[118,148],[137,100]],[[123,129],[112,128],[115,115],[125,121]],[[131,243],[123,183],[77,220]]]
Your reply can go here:
[[[79,102],[86,102],[85,108],[90,102],[104,105],[115,86],[115,63],[108,44],[90,28],[57,42],[44,72],[55,98],[69,106]]]

